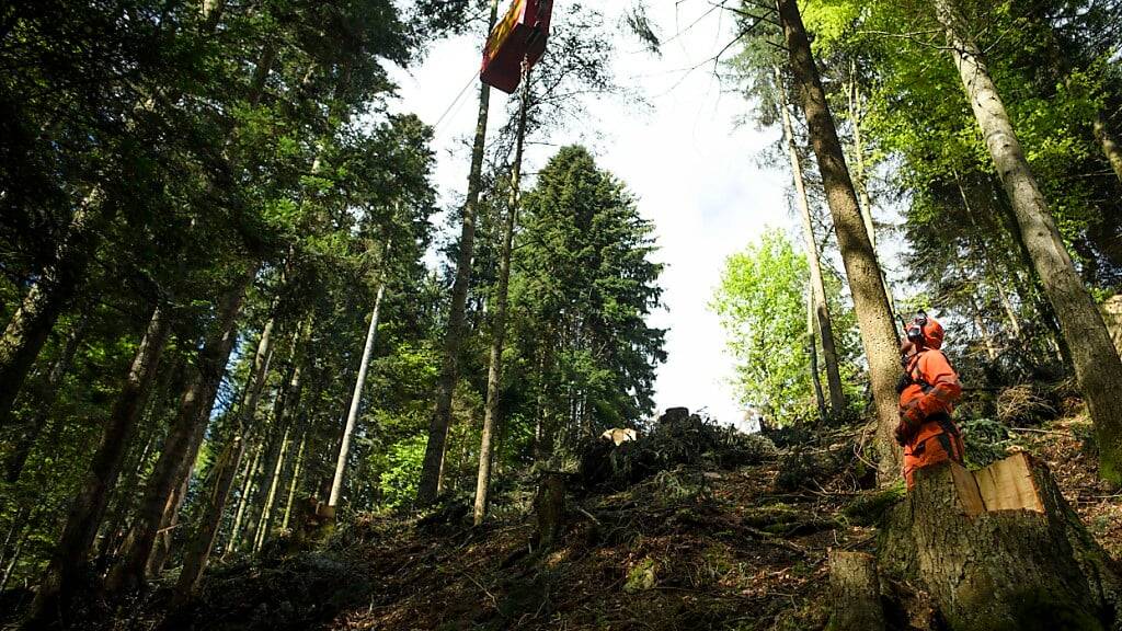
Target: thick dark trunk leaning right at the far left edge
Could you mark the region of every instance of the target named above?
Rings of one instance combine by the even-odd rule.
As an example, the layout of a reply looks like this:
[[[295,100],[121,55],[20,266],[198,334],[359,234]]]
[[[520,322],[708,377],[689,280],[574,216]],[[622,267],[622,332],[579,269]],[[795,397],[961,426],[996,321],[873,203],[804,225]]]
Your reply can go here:
[[[96,248],[99,231],[112,217],[100,189],[79,205],[54,260],[24,295],[0,337],[0,428],[11,422],[16,396],[58,316],[70,304]]]

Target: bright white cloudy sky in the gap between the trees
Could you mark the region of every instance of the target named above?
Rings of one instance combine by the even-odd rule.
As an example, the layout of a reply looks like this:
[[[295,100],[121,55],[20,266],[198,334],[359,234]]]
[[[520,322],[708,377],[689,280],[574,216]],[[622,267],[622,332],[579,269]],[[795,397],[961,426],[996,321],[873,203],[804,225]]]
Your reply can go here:
[[[596,4],[615,24],[631,1]],[[564,3],[555,2],[554,25],[563,19]],[[734,362],[708,303],[727,256],[744,249],[767,226],[792,226],[790,175],[761,166],[758,156],[779,132],[757,130],[751,122],[738,126],[738,118],[751,115],[751,104],[728,92],[730,85],[723,90],[712,64],[703,63],[732,40],[728,15],[710,10],[706,0],[649,4],[647,16],[665,42],[661,56],[620,36],[614,61],[617,81],[643,94],[646,106],[587,98],[588,116],[579,128],[534,138],[524,172],[534,173],[559,146],[582,143],[601,168],[626,183],[640,213],[654,223],[660,246],[654,258],[665,265],[660,280],[664,307],[650,320],[668,329],[669,358],[657,369],[655,404],[660,411],[677,405],[705,409],[720,422],[739,423],[745,410],[728,384]],[[434,180],[445,207],[462,199],[467,189],[479,48],[478,35],[447,39],[434,45],[420,66],[394,73],[402,99],[393,109],[414,112],[430,125],[439,121]],[[491,91],[490,129],[503,124],[509,98]],[[532,186],[533,179],[524,185]]]

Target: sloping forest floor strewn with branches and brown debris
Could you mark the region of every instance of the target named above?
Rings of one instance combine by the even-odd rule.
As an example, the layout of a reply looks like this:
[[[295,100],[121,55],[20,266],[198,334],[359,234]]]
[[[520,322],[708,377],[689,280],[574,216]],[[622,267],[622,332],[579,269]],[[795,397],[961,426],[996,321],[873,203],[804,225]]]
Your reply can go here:
[[[870,428],[819,432],[762,461],[678,466],[619,492],[570,495],[564,534],[530,547],[531,515],[482,529],[462,510],[404,521],[358,514],[320,549],[215,568],[173,629],[811,630],[829,606],[827,551],[873,550],[857,509]],[[1095,477],[1085,418],[1015,432],[1115,557],[1122,494]],[[967,437],[967,440],[971,440]],[[863,484],[864,483],[864,484]],[[528,504],[528,502],[526,502]],[[848,510],[847,510],[848,506]],[[444,518],[444,519],[442,519]],[[116,629],[149,629],[160,592]],[[162,612],[160,612],[162,613]]]

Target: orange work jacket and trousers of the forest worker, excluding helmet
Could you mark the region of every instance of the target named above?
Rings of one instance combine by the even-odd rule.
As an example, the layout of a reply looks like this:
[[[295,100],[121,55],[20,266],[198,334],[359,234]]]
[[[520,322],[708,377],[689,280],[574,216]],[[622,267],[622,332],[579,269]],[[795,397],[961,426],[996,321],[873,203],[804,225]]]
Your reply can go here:
[[[951,460],[963,463],[963,437],[951,420],[955,402],[963,394],[958,375],[941,350],[921,348],[904,364],[905,381],[900,391],[900,413],[918,408],[923,419],[904,446],[904,479],[913,485],[916,469]]]

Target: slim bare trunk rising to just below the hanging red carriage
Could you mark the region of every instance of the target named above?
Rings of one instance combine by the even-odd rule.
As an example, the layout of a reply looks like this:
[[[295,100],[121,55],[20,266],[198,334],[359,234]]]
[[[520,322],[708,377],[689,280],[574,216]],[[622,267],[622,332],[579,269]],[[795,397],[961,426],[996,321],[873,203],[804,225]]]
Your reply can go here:
[[[491,326],[490,366],[487,369],[487,403],[484,410],[484,428],[479,436],[479,473],[476,476],[476,502],[473,521],[476,525],[487,515],[487,493],[490,491],[491,442],[495,440],[495,424],[498,422],[498,390],[503,378],[503,344],[506,340],[506,304],[511,284],[511,249],[514,244],[514,227],[518,222],[518,188],[522,180],[522,149],[526,138],[526,110],[530,107],[530,72],[523,63],[522,106],[518,108],[518,129],[514,145],[514,164],[511,166],[511,201],[506,221],[503,225],[503,249],[498,266],[498,286],[495,296],[495,321]]]

